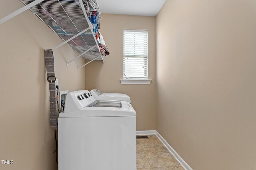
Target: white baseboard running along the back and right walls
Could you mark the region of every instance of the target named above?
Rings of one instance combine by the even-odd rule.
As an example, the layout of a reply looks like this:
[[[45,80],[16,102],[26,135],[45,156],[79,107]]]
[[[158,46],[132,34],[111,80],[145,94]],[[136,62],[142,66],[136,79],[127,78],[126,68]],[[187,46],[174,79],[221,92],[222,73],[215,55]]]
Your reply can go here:
[[[184,159],[171,147],[169,143],[158,133],[158,131],[137,131],[137,135],[156,135],[158,139],[164,144],[164,146],[169,150],[169,152],[176,158],[184,170],[192,170],[192,168],[185,162]]]

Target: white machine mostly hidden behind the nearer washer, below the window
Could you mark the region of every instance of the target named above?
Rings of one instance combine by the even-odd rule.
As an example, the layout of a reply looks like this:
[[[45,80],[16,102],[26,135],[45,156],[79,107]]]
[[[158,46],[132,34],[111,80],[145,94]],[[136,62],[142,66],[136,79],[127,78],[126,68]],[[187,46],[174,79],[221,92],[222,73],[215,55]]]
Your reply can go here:
[[[96,100],[120,100],[120,101],[126,101],[131,104],[131,99],[127,94],[122,94],[122,93],[102,93],[98,89],[93,89],[90,91],[92,96]]]

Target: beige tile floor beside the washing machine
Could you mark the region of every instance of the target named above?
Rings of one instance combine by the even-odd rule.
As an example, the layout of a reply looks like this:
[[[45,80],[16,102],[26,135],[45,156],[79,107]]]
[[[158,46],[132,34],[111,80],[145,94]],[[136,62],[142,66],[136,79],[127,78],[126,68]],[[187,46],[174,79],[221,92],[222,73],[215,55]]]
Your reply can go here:
[[[137,139],[137,170],[183,170],[156,135],[148,137]]]

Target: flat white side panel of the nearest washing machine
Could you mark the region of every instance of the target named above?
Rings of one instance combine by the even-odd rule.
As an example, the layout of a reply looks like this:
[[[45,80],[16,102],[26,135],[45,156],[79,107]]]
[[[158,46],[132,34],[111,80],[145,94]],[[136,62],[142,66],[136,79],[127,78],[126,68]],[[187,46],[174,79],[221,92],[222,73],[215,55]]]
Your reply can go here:
[[[63,117],[58,124],[59,170],[136,170],[136,116]]]

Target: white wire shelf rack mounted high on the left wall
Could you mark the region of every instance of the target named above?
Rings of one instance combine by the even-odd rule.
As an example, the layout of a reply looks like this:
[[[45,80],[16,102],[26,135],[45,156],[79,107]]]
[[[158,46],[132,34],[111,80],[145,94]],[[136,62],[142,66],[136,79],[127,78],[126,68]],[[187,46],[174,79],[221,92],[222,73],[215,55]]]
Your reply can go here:
[[[20,1],[28,5],[35,0]],[[30,10],[65,41],[62,45],[68,43],[78,53],[67,64],[79,57],[104,62],[82,0],[43,0]]]

